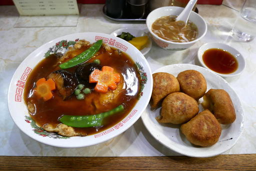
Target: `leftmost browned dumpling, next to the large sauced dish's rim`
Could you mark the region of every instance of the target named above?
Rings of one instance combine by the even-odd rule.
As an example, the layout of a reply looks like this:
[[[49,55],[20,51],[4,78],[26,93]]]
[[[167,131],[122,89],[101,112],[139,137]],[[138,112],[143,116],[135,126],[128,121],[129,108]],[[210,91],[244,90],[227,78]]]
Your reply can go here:
[[[157,72],[153,75],[153,90],[151,95],[151,109],[160,106],[162,99],[171,92],[179,91],[179,83],[175,76],[166,72]]]

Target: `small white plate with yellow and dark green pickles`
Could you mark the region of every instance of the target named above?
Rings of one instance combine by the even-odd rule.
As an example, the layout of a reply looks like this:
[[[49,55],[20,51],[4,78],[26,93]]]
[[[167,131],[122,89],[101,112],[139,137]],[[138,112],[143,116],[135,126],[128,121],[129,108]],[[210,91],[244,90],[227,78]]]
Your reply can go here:
[[[138,28],[119,28],[111,33],[111,35],[118,36],[132,45],[145,55],[152,46],[150,37],[144,31]]]

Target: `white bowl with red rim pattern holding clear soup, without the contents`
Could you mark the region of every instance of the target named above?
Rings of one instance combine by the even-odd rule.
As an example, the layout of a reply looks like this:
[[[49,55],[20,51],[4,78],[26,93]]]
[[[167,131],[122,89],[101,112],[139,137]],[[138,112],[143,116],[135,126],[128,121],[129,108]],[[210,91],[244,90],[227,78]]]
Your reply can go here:
[[[195,40],[189,41],[189,42],[172,42],[165,39],[162,39],[158,37],[155,33],[152,32],[151,26],[152,23],[161,16],[166,15],[178,15],[184,8],[178,7],[178,6],[164,6],[159,7],[154,10],[152,10],[146,17],[146,26],[148,30],[150,31],[150,34],[152,35],[153,40],[157,45],[159,45],[161,48],[167,49],[167,50],[184,50],[191,45],[193,45],[196,41],[201,39],[206,31],[207,31],[207,25],[204,19],[195,13],[194,11],[191,11],[189,20],[192,21],[198,28],[198,36]]]

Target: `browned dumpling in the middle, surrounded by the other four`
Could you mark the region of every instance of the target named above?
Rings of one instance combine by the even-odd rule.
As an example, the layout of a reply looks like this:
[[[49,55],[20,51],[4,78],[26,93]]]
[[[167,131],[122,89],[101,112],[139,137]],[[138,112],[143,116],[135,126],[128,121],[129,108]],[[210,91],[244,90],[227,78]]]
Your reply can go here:
[[[199,111],[196,100],[183,92],[167,95],[161,108],[161,116],[156,118],[161,123],[180,124],[187,122]]]

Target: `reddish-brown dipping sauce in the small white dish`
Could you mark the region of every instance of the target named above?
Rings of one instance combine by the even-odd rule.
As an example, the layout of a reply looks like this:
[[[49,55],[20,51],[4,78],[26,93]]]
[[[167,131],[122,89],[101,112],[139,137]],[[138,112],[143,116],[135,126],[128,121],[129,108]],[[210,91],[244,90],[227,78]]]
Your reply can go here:
[[[210,48],[204,51],[202,60],[208,68],[218,73],[232,73],[238,68],[236,58],[231,53],[219,48]]]

